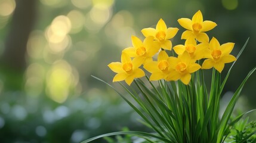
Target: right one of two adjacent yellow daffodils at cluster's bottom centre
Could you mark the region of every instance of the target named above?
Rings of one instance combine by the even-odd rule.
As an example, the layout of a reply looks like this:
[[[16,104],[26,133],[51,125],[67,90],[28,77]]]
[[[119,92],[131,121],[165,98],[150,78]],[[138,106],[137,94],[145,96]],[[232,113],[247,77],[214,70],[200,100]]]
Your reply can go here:
[[[180,79],[185,85],[188,85],[191,79],[191,73],[201,69],[199,64],[196,64],[191,60],[189,53],[184,52],[182,55],[176,57],[169,57],[168,59],[170,71],[166,77],[167,80]]]

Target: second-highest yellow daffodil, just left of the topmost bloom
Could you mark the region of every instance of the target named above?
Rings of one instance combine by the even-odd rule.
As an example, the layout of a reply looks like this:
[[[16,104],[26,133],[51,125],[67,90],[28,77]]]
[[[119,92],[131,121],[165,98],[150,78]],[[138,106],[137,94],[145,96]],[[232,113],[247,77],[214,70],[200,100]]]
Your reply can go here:
[[[172,42],[169,39],[173,38],[177,32],[177,28],[169,27],[167,29],[165,21],[162,18],[156,24],[156,29],[146,28],[142,29],[141,32],[145,37],[153,36],[156,41],[159,41],[161,48],[171,50]]]

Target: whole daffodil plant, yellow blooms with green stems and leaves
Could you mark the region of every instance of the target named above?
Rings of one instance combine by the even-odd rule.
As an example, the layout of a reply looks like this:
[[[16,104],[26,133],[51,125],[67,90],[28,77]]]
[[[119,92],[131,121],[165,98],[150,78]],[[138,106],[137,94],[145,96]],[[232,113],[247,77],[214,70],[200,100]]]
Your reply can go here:
[[[230,129],[245,114],[240,114],[233,121],[230,120],[239,94],[255,68],[245,77],[223,116],[219,118],[220,98],[234,61],[239,58],[248,40],[237,57],[234,57],[230,53],[235,43],[220,44],[214,37],[209,41],[205,32],[214,29],[217,24],[209,20],[203,21],[201,11],[193,15],[191,20],[178,19],[178,23],[186,31],[181,35],[181,39],[185,40],[184,45],[173,47],[175,54],[168,53],[172,50],[170,40],[174,38],[178,29],[167,28],[161,18],[156,24],[156,29],[141,30],[145,36],[144,41],[136,36],[131,37],[132,47],[122,51],[121,62],[112,62],[108,65],[116,73],[113,82],[119,82],[133,100],[116,91],[109,83],[107,85],[115,89],[134,108],[144,120],[143,123],[152,128],[154,133],[115,132],[96,136],[84,142],[120,134],[139,136],[148,142],[225,141]],[[155,55],[157,58],[153,59]],[[224,80],[221,80],[221,71],[225,64],[232,62],[229,72],[224,76]],[[207,87],[205,83],[203,70],[206,69],[212,69],[211,87]],[[145,71],[150,73],[150,76]],[[123,85],[122,80],[129,87]],[[130,86],[132,83],[134,86]]]

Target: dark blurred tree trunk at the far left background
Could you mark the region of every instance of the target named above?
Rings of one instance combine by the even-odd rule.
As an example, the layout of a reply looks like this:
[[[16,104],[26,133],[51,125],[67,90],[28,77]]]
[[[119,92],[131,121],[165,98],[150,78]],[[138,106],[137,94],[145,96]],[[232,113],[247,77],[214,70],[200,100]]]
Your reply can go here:
[[[26,69],[26,45],[36,15],[35,0],[16,0],[16,10],[5,39],[5,50],[0,58],[1,70],[4,70],[6,86],[20,89]],[[8,88],[8,87],[6,87]]]

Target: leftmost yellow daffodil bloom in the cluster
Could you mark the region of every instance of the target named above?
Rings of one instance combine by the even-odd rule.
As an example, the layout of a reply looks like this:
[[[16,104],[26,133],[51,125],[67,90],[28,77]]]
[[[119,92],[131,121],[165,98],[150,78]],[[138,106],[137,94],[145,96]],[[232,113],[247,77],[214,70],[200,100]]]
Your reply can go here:
[[[117,73],[113,78],[113,82],[119,82],[125,80],[128,85],[131,85],[134,78],[140,78],[145,76],[143,70],[139,69],[142,61],[139,59],[133,59],[129,57],[129,55],[122,53],[121,55],[121,63],[120,62],[112,62],[109,65],[109,68]]]

